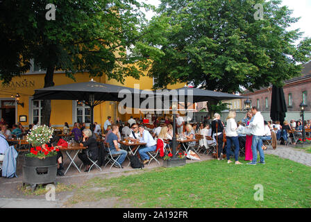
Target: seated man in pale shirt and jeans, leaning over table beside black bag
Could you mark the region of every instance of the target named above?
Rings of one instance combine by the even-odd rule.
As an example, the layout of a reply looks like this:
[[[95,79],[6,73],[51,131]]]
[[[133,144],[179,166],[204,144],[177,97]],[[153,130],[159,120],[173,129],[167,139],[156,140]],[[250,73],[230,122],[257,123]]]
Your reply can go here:
[[[148,152],[155,151],[155,149],[157,148],[157,143],[155,142],[149,131],[144,129],[144,125],[140,125],[138,129],[140,130],[140,142],[146,143],[146,146],[140,148],[138,150],[138,153],[140,153],[140,157],[142,157],[142,160],[144,160],[144,164],[146,164],[147,162],[149,162],[150,159]]]

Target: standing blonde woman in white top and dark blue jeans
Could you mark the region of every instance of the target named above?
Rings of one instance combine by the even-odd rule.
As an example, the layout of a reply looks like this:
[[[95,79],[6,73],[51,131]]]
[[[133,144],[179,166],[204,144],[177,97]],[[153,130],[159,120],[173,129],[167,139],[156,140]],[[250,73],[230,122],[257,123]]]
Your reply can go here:
[[[227,150],[226,157],[228,164],[232,161],[230,160],[231,144],[235,145],[235,164],[242,164],[239,162],[239,137],[237,135],[237,123],[235,122],[235,111],[230,111],[227,117],[226,126],[226,138],[227,138]]]

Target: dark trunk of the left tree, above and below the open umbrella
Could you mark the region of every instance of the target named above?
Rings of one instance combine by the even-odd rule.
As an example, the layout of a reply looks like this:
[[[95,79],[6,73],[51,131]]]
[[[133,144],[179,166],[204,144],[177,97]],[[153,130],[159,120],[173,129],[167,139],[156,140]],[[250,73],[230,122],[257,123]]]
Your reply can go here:
[[[54,86],[53,75],[55,66],[49,66],[47,68],[47,74],[44,77],[44,88]],[[42,111],[41,111],[41,124],[49,126],[51,117],[51,100],[42,101]]]

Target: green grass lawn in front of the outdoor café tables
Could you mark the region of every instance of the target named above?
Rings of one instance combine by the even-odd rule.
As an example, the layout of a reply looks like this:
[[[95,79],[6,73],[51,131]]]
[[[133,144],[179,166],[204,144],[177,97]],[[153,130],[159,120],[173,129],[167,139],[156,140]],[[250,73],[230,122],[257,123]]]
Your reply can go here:
[[[89,200],[115,196],[133,207],[311,207],[311,167],[274,155],[266,155],[266,162],[249,166],[210,160],[119,178],[93,178],[76,200],[83,195]],[[263,201],[254,200],[258,184],[264,189]],[[106,190],[87,191],[91,187]]]

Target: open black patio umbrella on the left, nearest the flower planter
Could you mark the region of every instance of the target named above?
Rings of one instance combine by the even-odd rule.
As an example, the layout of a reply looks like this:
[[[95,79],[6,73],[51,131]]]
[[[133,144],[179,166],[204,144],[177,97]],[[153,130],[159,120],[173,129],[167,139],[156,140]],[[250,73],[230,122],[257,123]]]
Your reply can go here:
[[[91,110],[91,129],[93,125],[94,107],[105,101],[122,101],[126,96],[131,96],[132,103],[126,103],[127,107],[139,108],[140,94],[142,90],[97,83],[90,80],[85,83],[72,83],[67,85],[56,85],[42,89],[35,89],[34,100],[77,100],[90,106]],[[138,97],[137,97],[138,96]],[[138,99],[137,99],[138,98]]]

